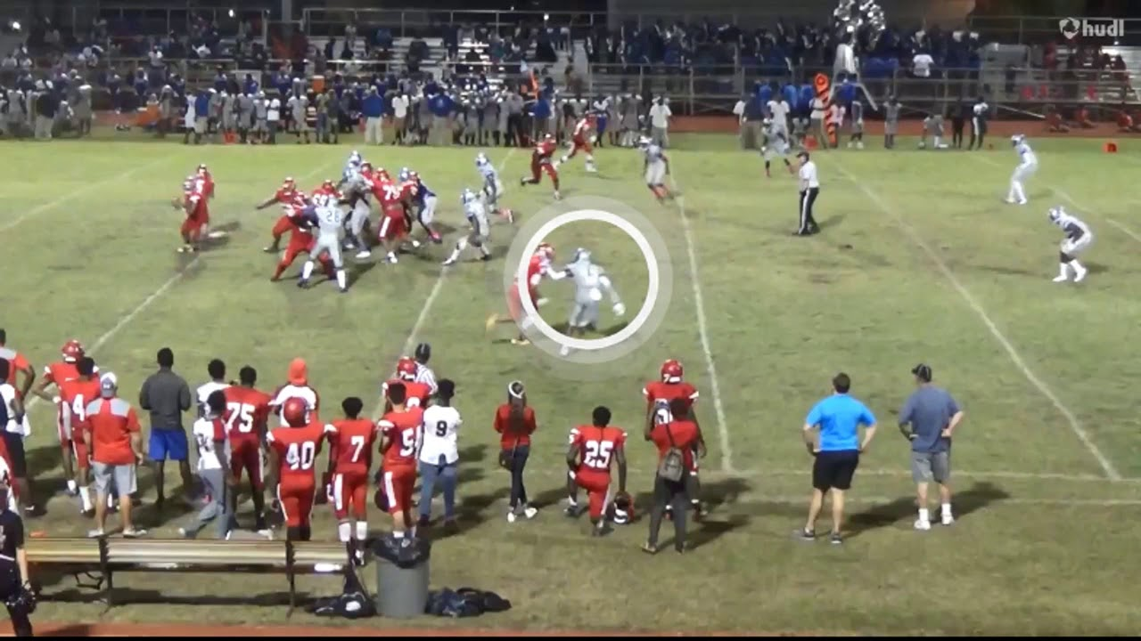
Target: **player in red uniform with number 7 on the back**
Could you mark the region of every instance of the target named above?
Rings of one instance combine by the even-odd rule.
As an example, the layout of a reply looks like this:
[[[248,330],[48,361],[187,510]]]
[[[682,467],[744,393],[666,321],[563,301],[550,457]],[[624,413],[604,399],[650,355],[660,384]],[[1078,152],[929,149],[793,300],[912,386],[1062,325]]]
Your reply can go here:
[[[325,425],[329,438],[329,501],[337,516],[337,537],[353,546],[357,563],[364,561],[362,544],[369,536],[369,470],[377,440],[377,424],[361,417],[364,401],[355,396],[341,403],[345,419]],[[356,521],[354,528],[353,521]]]

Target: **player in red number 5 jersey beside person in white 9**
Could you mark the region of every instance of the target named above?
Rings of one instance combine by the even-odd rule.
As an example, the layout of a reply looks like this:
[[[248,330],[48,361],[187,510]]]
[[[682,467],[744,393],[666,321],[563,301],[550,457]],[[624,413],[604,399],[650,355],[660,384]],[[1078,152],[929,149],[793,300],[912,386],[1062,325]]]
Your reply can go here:
[[[381,489],[388,501],[388,513],[393,514],[393,537],[404,539],[410,533],[412,520],[412,488],[416,484],[416,452],[420,449],[420,429],[423,409],[406,405],[407,390],[404,383],[388,386],[388,401],[391,411],[378,423],[380,429]],[[403,542],[402,542],[403,544]]]

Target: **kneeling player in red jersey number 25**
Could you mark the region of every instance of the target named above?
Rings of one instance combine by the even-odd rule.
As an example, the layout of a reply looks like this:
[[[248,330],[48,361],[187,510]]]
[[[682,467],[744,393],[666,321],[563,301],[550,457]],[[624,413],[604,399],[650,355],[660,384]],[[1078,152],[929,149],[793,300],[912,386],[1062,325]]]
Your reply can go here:
[[[567,514],[577,516],[578,488],[590,501],[592,536],[606,533],[606,512],[610,494],[610,465],[618,463],[618,492],[626,492],[626,432],[610,425],[610,409],[594,408],[590,425],[570,430],[567,448]]]

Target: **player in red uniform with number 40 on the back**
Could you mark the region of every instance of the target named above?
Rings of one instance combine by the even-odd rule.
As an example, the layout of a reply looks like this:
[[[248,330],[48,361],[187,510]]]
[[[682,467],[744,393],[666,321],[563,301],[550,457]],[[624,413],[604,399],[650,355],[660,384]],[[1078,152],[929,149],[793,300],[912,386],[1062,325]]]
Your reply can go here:
[[[269,486],[275,489],[278,509],[285,517],[289,541],[309,541],[313,535],[309,516],[317,492],[315,470],[325,429],[318,422],[307,422],[308,414],[304,400],[291,398],[282,407],[289,427],[266,435],[273,477]]]

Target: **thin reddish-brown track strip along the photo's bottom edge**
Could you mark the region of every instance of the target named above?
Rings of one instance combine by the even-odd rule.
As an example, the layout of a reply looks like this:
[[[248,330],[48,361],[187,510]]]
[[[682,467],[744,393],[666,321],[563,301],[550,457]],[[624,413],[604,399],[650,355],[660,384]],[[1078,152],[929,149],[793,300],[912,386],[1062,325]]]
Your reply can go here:
[[[34,619],[34,617],[33,617]],[[375,619],[378,622],[382,619]],[[124,623],[73,623],[51,624],[32,622],[37,636],[590,636],[596,632],[517,632],[504,630],[464,630],[460,627],[385,627],[383,624],[358,627],[334,626],[238,626],[238,625],[157,625]],[[836,636],[835,632],[826,633]],[[7,622],[0,625],[0,635],[10,636],[11,625]],[[607,633],[610,636],[745,636],[743,633]],[[855,636],[855,633],[849,636]],[[764,633],[753,632],[747,636],[822,636],[814,632]]]

